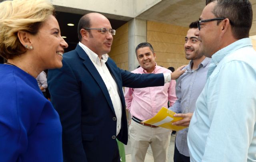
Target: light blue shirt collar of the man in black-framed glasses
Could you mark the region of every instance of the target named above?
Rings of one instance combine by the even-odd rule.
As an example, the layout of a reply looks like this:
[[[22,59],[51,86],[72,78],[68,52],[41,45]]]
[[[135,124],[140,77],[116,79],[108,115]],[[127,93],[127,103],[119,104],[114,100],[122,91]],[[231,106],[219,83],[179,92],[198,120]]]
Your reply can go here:
[[[250,38],[243,38],[243,39],[237,40],[236,42],[222,48],[221,50],[217,51],[215,54],[212,55],[212,60],[216,65],[218,65],[218,63],[222,60],[222,58],[238,50],[239,48],[242,48],[245,46],[252,46],[252,42]]]

